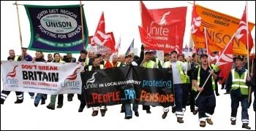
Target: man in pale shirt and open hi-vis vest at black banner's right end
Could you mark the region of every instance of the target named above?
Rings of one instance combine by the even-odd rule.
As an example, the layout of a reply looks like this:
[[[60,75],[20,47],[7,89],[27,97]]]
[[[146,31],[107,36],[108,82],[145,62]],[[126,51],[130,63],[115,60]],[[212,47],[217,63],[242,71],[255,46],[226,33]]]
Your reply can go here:
[[[187,58],[188,59],[188,58]],[[162,68],[171,68],[173,73],[173,87],[174,87],[174,101],[176,105],[176,117],[178,123],[184,123],[183,121],[183,111],[182,111],[182,101],[183,101],[183,87],[187,86],[187,77],[184,71],[190,70],[190,63],[183,63],[177,60],[177,52],[173,50],[170,52],[170,61],[167,61],[162,65]],[[164,114],[162,114],[162,119],[165,119],[167,113],[169,112],[169,107],[163,107]]]

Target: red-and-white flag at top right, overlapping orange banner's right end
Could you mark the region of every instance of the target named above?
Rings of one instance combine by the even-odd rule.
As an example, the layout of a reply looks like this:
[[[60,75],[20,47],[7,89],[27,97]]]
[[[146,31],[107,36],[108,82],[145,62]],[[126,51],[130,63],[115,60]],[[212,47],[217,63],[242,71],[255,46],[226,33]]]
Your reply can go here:
[[[251,31],[249,31],[249,27],[247,25],[248,20],[246,20],[246,8],[247,6],[245,6],[244,14],[239,23],[238,30],[236,32],[236,38],[238,38],[241,42],[243,42],[247,46],[246,32],[248,31],[248,45],[249,45],[249,51],[250,51],[253,47],[253,40],[252,40]]]

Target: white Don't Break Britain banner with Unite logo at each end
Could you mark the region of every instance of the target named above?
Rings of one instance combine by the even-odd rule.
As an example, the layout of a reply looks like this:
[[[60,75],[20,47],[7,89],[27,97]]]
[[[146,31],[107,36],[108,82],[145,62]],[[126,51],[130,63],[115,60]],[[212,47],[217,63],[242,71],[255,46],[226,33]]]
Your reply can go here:
[[[48,95],[81,94],[80,71],[77,63],[43,63],[1,61],[3,89],[37,92]]]

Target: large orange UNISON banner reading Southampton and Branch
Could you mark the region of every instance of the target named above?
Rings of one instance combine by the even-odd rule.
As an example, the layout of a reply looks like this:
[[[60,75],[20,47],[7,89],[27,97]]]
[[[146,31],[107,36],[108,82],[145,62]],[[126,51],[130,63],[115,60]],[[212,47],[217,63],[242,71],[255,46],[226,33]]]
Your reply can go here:
[[[204,32],[204,27],[206,27],[208,38],[214,41],[219,47],[219,49],[214,51],[219,52],[228,44],[233,34],[237,32],[241,19],[199,5],[196,5],[196,12],[197,15],[202,17],[202,23],[199,27],[200,31]],[[248,26],[249,31],[252,31],[255,23],[248,23]],[[196,42],[195,44],[197,44],[197,48],[205,48],[206,40],[204,38],[196,37],[196,39],[193,39]],[[246,44],[235,37],[233,40],[233,55],[246,55],[246,52]]]

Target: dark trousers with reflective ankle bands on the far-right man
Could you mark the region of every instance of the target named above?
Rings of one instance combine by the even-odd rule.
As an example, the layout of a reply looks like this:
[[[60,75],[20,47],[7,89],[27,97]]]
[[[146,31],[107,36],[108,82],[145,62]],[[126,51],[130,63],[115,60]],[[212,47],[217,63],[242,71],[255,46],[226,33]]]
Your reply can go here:
[[[243,122],[243,125],[249,124],[248,97],[236,97],[233,95],[232,91],[231,91],[230,97],[231,97],[231,120],[236,121],[239,102],[241,102],[241,106],[242,106],[241,120]]]

